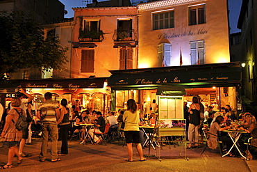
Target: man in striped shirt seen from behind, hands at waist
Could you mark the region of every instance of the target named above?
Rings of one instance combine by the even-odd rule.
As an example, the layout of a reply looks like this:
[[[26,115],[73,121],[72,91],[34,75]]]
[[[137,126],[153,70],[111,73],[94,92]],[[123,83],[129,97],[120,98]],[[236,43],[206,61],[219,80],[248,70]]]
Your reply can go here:
[[[60,161],[57,154],[58,127],[57,121],[60,118],[59,105],[52,100],[52,94],[44,94],[45,102],[38,107],[37,117],[42,120],[42,146],[40,162],[47,157],[47,143],[51,141],[51,162]]]

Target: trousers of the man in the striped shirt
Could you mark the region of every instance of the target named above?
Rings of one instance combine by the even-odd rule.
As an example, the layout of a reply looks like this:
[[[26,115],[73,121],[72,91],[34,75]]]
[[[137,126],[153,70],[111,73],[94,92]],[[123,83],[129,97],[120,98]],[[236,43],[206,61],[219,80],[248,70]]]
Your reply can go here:
[[[58,158],[57,155],[57,139],[58,139],[58,127],[57,124],[43,123],[42,125],[42,146],[40,153],[40,160],[44,160],[47,157],[47,143],[50,139],[51,142],[51,159]]]

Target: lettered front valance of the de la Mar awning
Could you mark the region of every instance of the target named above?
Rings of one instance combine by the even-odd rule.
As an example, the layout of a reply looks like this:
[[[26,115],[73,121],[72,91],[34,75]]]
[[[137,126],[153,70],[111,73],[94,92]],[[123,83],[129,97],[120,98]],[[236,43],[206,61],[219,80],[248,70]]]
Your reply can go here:
[[[232,68],[226,70],[185,70],[170,72],[138,72],[113,74],[108,86],[146,85],[146,84],[194,84],[240,81],[241,71]]]

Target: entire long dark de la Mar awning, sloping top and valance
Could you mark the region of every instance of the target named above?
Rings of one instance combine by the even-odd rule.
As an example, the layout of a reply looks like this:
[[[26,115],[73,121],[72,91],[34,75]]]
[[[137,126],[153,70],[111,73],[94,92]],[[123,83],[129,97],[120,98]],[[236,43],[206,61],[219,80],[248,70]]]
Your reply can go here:
[[[240,63],[216,63],[163,68],[110,70],[108,86],[115,90],[156,89],[158,86],[235,86],[240,84]]]

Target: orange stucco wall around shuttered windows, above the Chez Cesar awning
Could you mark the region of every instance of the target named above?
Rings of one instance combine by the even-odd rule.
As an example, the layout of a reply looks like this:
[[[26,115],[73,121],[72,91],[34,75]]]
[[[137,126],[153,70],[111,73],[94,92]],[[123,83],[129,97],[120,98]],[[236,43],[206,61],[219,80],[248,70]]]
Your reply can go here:
[[[137,29],[137,9],[136,7],[116,7],[116,8],[76,8],[74,9],[74,26],[73,42],[78,42],[79,17],[83,19],[101,19],[100,30],[103,31],[104,40],[94,42],[94,72],[81,73],[81,50],[83,48],[73,49],[72,77],[109,77],[108,70],[119,70],[119,48],[113,48],[113,34],[117,29],[117,19],[131,18],[133,29]],[[135,50],[135,48],[134,48]],[[136,50],[134,51],[134,64],[136,65]]]

